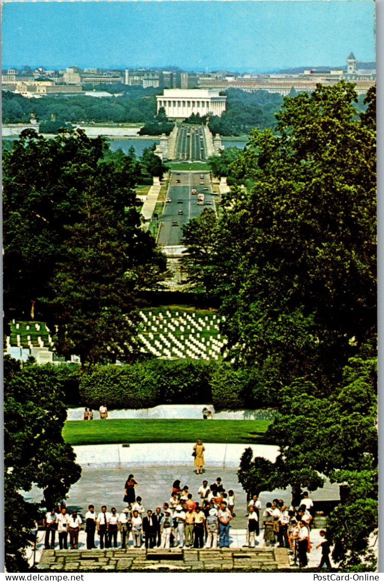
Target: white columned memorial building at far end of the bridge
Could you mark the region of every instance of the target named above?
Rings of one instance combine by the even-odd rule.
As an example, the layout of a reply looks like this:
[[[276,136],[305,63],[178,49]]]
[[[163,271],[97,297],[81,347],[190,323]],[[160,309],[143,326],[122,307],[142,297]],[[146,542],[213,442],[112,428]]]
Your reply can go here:
[[[172,119],[185,119],[192,113],[220,117],[225,111],[225,95],[213,89],[164,89],[163,95],[156,98],[157,111],[163,107],[166,116]]]

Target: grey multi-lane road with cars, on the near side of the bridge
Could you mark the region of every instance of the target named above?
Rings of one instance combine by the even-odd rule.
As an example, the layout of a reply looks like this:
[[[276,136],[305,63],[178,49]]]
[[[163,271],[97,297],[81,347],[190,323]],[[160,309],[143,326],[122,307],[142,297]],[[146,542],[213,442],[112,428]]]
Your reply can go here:
[[[200,176],[204,176],[200,178]],[[203,193],[205,204],[197,204],[197,194]],[[163,247],[180,246],[182,244],[182,226],[191,218],[196,218],[204,208],[213,208],[212,184],[209,172],[172,172],[167,200],[163,214],[159,217],[162,222],[158,242]]]

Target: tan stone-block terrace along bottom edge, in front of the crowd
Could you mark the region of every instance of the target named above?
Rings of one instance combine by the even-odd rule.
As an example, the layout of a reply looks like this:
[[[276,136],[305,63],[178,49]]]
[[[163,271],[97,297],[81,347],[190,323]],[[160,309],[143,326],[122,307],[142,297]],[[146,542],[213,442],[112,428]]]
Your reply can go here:
[[[61,572],[111,570],[157,570],[168,568],[194,572],[201,569],[289,569],[285,548],[222,548],[222,549],[105,549],[93,551],[44,550],[40,569]]]

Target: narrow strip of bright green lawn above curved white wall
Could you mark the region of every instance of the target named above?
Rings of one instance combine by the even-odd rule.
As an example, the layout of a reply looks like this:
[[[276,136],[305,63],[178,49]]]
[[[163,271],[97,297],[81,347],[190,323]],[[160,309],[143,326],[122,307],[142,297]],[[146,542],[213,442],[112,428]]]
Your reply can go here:
[[[71,420],[65,423],[63,437],[70,445],[107,445],[137,442],[266,443],[269,420]]]

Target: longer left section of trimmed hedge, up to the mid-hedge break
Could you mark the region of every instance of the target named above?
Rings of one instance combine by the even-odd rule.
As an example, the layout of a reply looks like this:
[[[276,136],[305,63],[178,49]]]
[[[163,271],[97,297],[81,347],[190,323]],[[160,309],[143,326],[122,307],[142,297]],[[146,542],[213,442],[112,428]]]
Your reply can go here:
[[[99,366],[80,382],[84,406],[98,409],[150,408],[157,404],[211,402],[211,377],[217,364],[204,360],[149,360]]]

